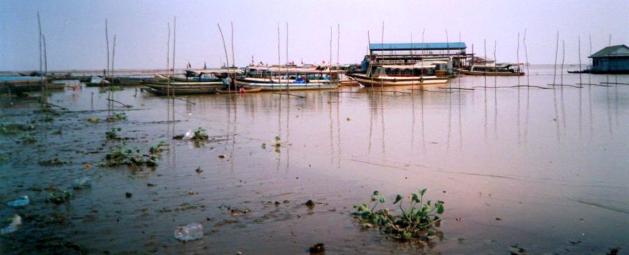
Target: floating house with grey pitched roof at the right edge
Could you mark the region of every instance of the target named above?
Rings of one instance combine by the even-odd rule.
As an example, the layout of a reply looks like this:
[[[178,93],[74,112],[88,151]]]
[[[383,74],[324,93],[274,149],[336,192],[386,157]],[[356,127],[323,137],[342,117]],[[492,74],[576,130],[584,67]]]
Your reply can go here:
[[[629,47],[614,45],[591,55],[590,73],[629,73]]]

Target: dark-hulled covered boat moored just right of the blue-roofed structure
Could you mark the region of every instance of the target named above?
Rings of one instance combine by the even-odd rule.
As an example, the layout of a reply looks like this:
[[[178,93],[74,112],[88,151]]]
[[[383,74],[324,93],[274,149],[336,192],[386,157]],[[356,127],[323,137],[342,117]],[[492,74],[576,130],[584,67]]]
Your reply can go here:
[[[522,63],[496,63],[493,59],[473,57],[469,66],[456,68],[456,71],[466,75],[519,76],[524,75],[520,68],[522,65]]]

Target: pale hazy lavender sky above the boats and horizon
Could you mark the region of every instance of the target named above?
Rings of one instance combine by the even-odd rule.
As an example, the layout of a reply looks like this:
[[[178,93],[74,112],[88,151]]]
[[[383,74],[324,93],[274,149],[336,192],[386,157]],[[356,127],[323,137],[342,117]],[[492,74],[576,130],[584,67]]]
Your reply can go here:
[[[166,68],[167,22],[177,16],[176,66],[187,61],[200,68],[224,62],[217,23],[228,43],[234,27],[236,65],[255,61],[277,64],[277,25],[280,25],[282,63],[286,59],[286,23],[289,24],[289,60],[299,63],[337,57],[340,24],[340,62],[357,63],[372,43],[449,41],[472,44],[476,53],[498,61],[516,61],[518,33],[527,29],[526,44],[533,64],[554,62],[556,31],[565,40],[565,62],[577,63],[577,36],[582,61],[588,61],[588,34],[593,52],[612,45],[629,45],[629,1],[0,1],[0,70],[39,68],[37,11],[41,14],[48,48],[48,69],[106,67],[105,19],[110,43],[116,34],[115,68]],[[171,44],[172,45],[172,44]],[[172,54],[172,52],[171,52]],[[520,59],[524,61],[523,46]],[[230,60],[231,61],[231,60]]]

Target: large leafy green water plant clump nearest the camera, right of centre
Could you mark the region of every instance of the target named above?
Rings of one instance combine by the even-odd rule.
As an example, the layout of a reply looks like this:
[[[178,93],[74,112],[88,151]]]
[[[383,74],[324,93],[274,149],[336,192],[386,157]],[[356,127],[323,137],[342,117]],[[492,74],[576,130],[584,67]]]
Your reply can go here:
[[[407,207],[403,206],[403,197],[396,196],[393,204],[398,204],[401,214],[392,214],[389,208],[383,208],[386,199],[379,191],[373,191],[369,206],[367,204],[354,205],[354,217],[360,220],[363,228],[377,226],[381,233],[391,236],[400,241],[424,240],[442,235],[435,227],[441,219],[437,214],[444,212],[443,202],[424,201],[426,189],[421,189],[418,193],[408,196]],[[376,207],[378,209],[376,210]]]

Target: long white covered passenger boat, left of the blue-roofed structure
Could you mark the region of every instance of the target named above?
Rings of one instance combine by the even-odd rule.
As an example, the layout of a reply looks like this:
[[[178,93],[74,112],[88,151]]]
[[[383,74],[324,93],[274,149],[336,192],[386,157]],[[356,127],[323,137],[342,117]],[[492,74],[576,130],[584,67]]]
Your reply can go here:
[[[236,85],[261,91],[317,90],[338,88],[338,70],[325,66],[250,66]]]

